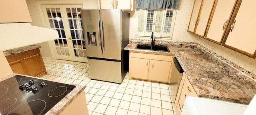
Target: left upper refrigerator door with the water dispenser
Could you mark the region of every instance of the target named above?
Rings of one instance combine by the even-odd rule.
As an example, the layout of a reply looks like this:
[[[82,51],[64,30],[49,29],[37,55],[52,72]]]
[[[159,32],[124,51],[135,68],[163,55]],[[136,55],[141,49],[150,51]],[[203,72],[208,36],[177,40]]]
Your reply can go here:
[[[87,56],[103,58],[100,39],[100,11],[82,10],[81,15]]]

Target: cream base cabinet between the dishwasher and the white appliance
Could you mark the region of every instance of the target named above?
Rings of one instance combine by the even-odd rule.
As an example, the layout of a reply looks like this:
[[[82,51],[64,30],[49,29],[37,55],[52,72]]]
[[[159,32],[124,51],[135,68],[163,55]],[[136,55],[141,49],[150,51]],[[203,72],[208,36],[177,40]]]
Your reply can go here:
[[[198,95],[196,94],[196,91],[194,90],[188,78],[186,77],[186,73],[184,72],[182,75],[182,80],[180,82],[178,93],[174,102],[176,115],[180,115],[187,96],[198,97]]]

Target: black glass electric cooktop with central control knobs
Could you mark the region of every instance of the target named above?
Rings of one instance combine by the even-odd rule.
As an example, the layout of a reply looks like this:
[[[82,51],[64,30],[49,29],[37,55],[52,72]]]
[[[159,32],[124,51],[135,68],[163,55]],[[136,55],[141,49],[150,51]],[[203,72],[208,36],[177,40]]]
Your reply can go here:
[[[0,115],[44,115],[75,87],[15,75],[0,82]]]

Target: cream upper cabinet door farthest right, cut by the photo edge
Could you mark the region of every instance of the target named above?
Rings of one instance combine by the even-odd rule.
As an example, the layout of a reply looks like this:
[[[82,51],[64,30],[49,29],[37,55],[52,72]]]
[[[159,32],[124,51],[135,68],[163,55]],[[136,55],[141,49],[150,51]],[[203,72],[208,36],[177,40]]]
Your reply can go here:
[[[228,48],[236,50],[250,57],[256,57],[256,0],[242,0],[230,32],[224,41]],[[233,21],[233,20],[232,20]]]

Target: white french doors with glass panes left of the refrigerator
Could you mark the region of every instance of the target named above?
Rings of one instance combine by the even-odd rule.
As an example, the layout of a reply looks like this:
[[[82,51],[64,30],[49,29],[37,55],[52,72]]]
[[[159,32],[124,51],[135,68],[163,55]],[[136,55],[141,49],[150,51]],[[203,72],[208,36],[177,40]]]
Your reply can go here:
[[[52,41],[57,59],[87,62],[83,35],[82,5],[42,5],[48,28],[58,31]]]

